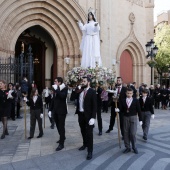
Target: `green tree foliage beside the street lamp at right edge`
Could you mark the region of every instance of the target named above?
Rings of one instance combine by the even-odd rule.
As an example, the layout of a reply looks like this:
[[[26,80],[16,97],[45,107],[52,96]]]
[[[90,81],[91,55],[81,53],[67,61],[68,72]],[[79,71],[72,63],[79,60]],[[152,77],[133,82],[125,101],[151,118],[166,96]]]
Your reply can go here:
[[[162,75],[162,73],[168,72],[170,66],[170,25],[158,26],[154,40],[158,47],[155,68]]]

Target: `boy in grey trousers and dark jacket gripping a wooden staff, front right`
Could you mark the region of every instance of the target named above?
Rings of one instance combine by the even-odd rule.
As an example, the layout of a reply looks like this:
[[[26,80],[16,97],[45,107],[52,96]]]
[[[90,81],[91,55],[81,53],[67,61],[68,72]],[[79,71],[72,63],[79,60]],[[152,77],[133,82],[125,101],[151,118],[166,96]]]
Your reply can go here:
[[[139,123],[142,125],[142,117],[139,101],[136,98],[133,98],[133,90],[131,88],[127,89],[126,99],[121,101],[120,112],[123,113],[124,120],[124,144],[125,151],[123,153],[128,153],[131,151],[130,142],[132,144],[132,149],[135,154],[138,154],[136,148],[136,132],[137,132],[137,115],[139,116]],[[115,109],[116,112],[119,112],[119,109]]]

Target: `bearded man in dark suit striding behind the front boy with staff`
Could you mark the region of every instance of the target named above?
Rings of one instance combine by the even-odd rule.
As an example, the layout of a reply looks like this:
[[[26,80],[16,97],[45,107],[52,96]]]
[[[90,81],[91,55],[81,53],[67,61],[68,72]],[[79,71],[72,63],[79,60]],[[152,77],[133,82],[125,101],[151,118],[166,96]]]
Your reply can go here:
[[[121,104],[121,101],[126,98],[126,87],[123,87],[122,85],[122,78],[117,77],[117,84],[116,84],[116,96],[119,96],[118,99],[118,107]],[[111,116],[110,116],[110,125],[109,129],[106,131],[106,133],[110,133],[110,131],[113,130],[113,126],[115,124],[115,118],[116,118],[116,112],[115,112],[115,101],[112,102],[111,106]],[[121,134],[122,134],[122,139],[123,139],[123,113],[120,111],[119,113],[119,119],[120,119],[120,129],[121,129]]]

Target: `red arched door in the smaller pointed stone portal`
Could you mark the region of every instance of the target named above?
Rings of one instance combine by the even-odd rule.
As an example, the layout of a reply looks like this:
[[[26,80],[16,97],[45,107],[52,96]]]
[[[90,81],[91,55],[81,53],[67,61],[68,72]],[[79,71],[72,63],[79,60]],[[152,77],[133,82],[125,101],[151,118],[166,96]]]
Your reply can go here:
[[[133,61],[130,53],[125,50],[120,57],[120,76],[124,83],[133,82]]]

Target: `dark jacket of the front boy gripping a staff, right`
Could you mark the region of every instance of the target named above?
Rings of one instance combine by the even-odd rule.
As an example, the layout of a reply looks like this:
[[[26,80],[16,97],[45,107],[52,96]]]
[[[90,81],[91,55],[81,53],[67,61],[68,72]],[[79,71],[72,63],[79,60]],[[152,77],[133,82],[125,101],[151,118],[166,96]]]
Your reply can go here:
[[[124,116],[135,116],[138,114],[139,121],[142,121],[142,114],[141,109],[139,105],[139,101],[136,98],[133,98],[133,101],[130,105],[129,112],[127,112],[127,104],[126,104],[126,98],[122,101],[120,105],[120,111],[123,112]]]

